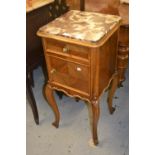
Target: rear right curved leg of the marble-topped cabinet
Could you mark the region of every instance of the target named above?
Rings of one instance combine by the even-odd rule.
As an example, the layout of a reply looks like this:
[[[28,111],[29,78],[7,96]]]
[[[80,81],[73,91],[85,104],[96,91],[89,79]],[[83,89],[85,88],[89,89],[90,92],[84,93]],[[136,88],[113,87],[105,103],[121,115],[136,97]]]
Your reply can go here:
[[[115,108],[112,106],[112,101],[113,101],[113,96],[117,89],[117,86],[118,86],[118,75],[116,74],[113,80],[111,81],[111,88],[109,90],[108,99],[107,99],[110,114],[113,114],[115,111]]]

